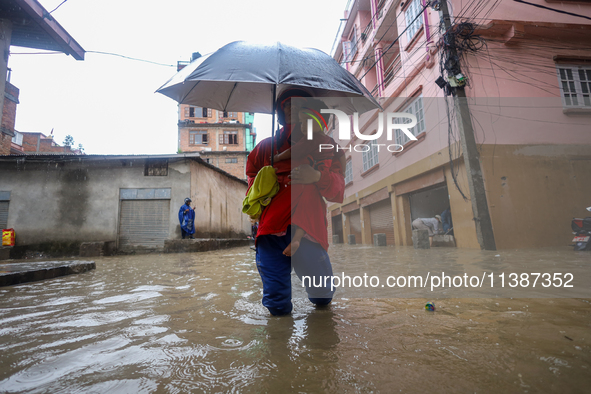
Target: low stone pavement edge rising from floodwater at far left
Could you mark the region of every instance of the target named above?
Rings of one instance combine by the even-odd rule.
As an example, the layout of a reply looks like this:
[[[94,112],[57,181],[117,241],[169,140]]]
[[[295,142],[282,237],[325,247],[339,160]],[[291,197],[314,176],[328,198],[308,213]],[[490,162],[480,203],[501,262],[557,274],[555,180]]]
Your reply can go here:
[[[96,268],[94,261],[36,261],[0,263],[0,287],[80,274]]]

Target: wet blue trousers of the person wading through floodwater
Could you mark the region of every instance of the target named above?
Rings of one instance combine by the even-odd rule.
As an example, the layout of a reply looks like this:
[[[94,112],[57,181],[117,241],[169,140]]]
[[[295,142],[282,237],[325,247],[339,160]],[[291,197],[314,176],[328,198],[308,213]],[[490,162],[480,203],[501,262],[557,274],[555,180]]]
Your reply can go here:
[[[332,301],[334,290],[330,289],[332,266],[326,250],[320,244],[302,238],[297,252],[288,257],[283,251],[291,242],[290,231],[281,237],[260,235],[257,237],[256,262],[263,281],[263,305],[273,315],[285,315],[291,312],[291,268],[296,275],[309,276],[305,280],[308,299],[316,305],[327,305]],[[315,280],[314,280],[315,278]]]

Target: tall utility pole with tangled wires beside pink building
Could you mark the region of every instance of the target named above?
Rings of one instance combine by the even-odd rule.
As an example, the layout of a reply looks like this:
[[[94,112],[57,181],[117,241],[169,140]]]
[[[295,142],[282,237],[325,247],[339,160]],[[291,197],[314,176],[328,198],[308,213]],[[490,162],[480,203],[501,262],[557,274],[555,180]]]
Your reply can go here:
[[[451,28],[449,9],[447,1],[441,1],[441,14],[445,31]],[[449,48],[453,58],[457,58],[455,48]],[[459,63],[458,63],[459,69]],[[446,78],[446,75],[442,75]],[[484,250],[496,250],[495,236],[488,211],[486,201],[486,192],[484,190],[484,179],[482,178],[482,168],[480,167],[480,155],[476,147],[476,138],[474,137],[474,127],[470,118],[468,100],[464,87],[452,88],[454,108],[456,110],[458,130],[460,132],[462,152],[464,156],[464,165],[466,166],[466,175],[468,177],[468,187],[470,189],[470,201],[472,202],[472,213],[474,215],[474,224],[476,225],[476,236],[480,248]]]

